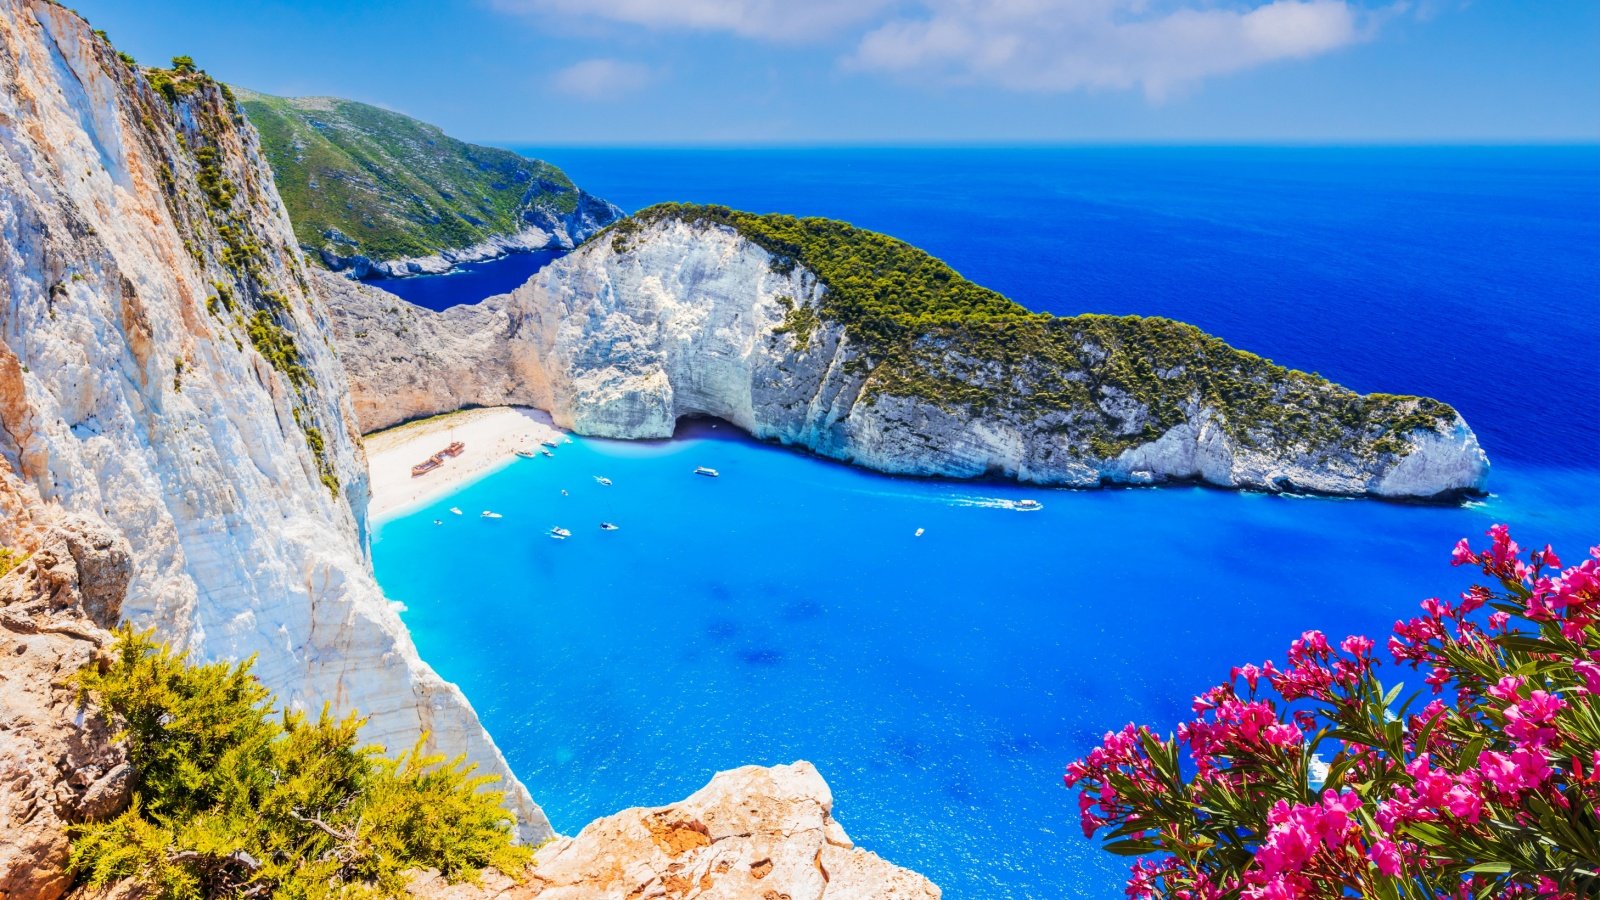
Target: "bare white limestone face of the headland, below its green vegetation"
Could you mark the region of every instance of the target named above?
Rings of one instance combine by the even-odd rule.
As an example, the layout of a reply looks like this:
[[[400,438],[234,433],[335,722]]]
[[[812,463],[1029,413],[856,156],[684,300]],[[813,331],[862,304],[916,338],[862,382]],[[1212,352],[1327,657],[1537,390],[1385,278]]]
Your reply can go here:
[[[1096,456],[1082,436],[1098,426],[1083,421],[1138,434],[1149,410],[1114,388],[1082,413],[1026,400],[971,412],[883,389],[843,327],[784,328],[786,304],[814,307],[826,290],[805,266],[774,267],[731,227],[664,218],[622,250],[602,235],[477,306],[438,314],[365,285],[326,295],[363,429],[523,404],[606,437],[667,437],[683,416],[715,416],[760,439],[914,476],[1434,498],[1480,490],[1488,472],[1459,416],[1403,436],[1405,453],[1371,452],[1370,436],[1354,432],[1274,448],[1234,437],[1198,392],[1155,440]],[[973,370],[971,384],[1010,392]]]

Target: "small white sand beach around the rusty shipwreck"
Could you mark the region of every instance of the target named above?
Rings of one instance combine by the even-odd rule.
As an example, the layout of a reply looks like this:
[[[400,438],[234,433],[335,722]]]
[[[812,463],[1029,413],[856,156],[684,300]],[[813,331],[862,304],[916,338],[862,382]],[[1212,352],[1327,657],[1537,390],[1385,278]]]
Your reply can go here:
[[[506,466],[517,458],[517,447],[538,448],[541,440],[562,436],[549,413],[528,407],[461,410],[374,431],[363,439],[373,480],[368,514],[374,522],[398,516]],[[466,444],[461,456],[446,456],[432,472],[411,476],[411,466],[453,440]]]

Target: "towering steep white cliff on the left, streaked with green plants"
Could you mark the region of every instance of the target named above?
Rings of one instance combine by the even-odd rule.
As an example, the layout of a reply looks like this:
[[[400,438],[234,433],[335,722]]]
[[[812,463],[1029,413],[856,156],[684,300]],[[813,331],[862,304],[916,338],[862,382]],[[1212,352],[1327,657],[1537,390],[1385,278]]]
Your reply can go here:
[[[254,133],[43,0],[0,0],[0,458],[126,535],[128,620],[509,777],[371,577],[344,372]]]

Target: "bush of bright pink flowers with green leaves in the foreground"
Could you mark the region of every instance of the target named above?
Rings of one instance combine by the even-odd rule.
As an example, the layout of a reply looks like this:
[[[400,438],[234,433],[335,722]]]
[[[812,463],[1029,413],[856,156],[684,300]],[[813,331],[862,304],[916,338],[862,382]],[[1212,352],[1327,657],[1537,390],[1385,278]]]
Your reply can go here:
[[[1134,898],[1331,900],[1418,884],[1576,897],[1581,879],[1600,879],[1595,844],[1574,838],[1600,822],[1600,548],[1589,556],[1563,570],[1504,525],[1482,551],[1461,541],[1453,562],[1498,585],[1395,623],[1390,655],[1426,685],[1408,698],[1379,682],[1370,637],[1334,649],[1307,631],[1282,668],[1243,665],[1195,697],[1176,737],[1131,724],[1106,735],[1066,773],[1085,834],[1142,854]]]

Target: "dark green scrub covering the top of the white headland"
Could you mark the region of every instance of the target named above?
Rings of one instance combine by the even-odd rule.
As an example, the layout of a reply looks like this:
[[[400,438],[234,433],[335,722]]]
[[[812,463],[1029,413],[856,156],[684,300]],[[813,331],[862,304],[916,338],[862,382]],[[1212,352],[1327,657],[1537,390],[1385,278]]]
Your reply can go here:
[[[816,274],[827,287],[816,314],[864,351],[869,392],[974,412],[1024,400],[1090,434],[1099,456],[1160,437],[1197,407],[1216,410],[1245,445],[1378,455],[1405,453],[1403,436],[1456,416],[1426,397],[1360,396],[1171,319],[1032,312],[902,240],[835,219],[662,203],[605,235],[626,251],[667,219],[733,227],[773,255],[774,271]],[[803,352],[814,319],[797,309],[779,333]],[[1142,412],[1123,415],[1130,400]]]

